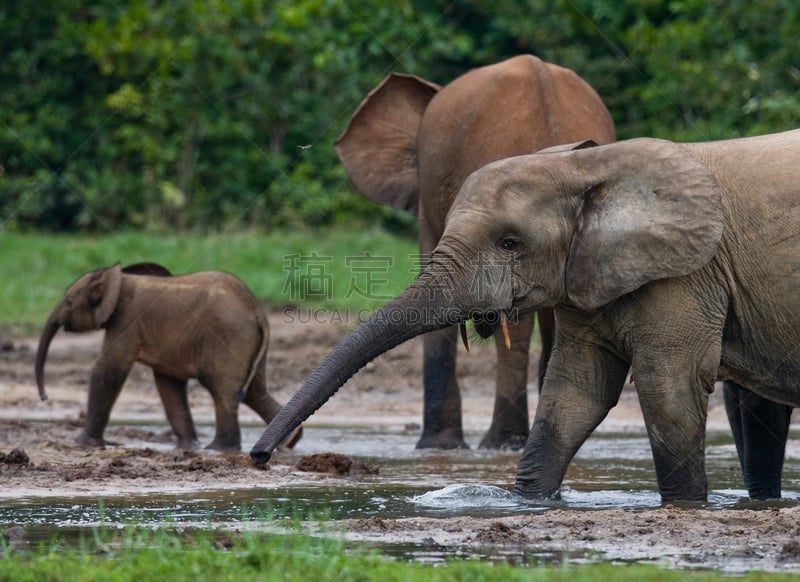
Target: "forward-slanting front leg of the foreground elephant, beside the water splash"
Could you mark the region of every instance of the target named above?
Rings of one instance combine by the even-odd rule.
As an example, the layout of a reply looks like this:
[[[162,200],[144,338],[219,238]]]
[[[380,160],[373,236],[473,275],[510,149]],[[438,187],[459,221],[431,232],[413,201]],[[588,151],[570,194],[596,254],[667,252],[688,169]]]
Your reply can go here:
[[[575,453],[619,400],[628,371],[628,363],[603,347],[591,330],[570,333],[566,321],[559,324],[531,435],[517,465],[514,491],[531,499],[557,493]]]

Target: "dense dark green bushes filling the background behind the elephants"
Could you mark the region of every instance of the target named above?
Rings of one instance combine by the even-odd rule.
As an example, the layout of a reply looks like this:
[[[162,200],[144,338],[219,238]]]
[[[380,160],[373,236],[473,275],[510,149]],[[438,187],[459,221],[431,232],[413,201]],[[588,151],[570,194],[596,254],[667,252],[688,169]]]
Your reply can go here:
[[[800,119],[792,0],[47,0],[0,7],[0,227],[383,222],[333,142],[390,70],[571,67],[620,137]],[[311,147],[307,147],[311,146]]]

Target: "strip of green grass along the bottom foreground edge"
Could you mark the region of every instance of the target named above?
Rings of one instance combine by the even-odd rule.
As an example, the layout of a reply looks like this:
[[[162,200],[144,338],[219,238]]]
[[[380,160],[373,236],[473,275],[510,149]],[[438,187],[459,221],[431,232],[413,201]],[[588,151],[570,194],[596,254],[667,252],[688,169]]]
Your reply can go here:
[[[709,571],[666,570],[652,565],[609,563],[510,565],[453,559],[431,565],[403,562],[364,550],[348,551],[340,539],[302,534],[224,531],[99,530],[75,549],[58,542],[31,551],[0,552],[0,581],[82,580],[283,580],[368,581],[706,581],[729,577]],[[749,574],[737,580],[792,580],[793,576]]]

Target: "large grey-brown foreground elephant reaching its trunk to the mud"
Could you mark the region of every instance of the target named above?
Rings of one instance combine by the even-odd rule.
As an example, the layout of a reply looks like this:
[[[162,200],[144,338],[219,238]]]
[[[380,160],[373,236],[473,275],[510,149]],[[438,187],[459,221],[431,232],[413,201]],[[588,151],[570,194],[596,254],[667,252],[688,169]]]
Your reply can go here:
[[[419,278],[334,347],[250,455],[268,461],[351,375],[412,337],[469,319],[488,337],[514,312],[554,307],[515,493],[558,495],[631,369],[662,500],[705,500],[716,379],[800,405],[799,288],[800,130],[492,162],[465,181]]]

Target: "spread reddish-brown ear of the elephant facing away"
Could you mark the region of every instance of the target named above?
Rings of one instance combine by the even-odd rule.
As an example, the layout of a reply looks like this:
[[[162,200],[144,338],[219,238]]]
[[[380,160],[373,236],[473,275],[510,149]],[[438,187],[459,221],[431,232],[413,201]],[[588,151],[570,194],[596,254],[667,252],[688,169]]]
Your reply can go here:
[[[336,140],[336,153],[356,188],[380,204],[417,213],[417,130],[441,87],[391,73],[375,87]]]

